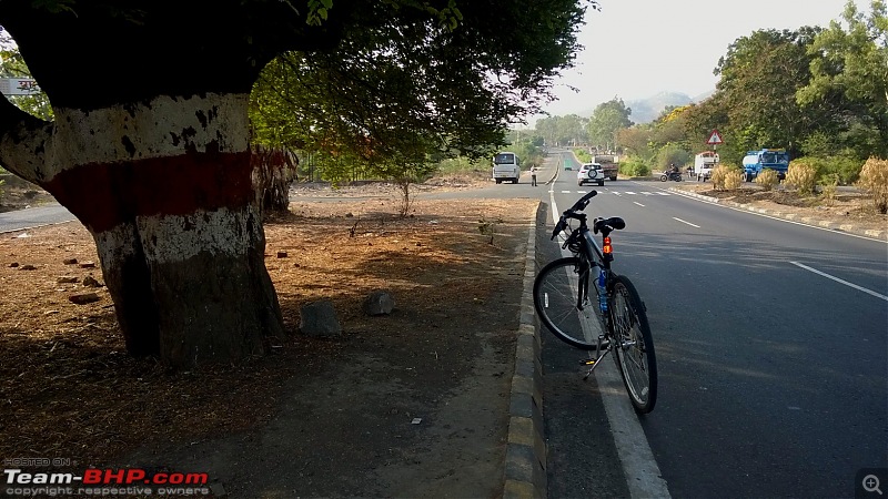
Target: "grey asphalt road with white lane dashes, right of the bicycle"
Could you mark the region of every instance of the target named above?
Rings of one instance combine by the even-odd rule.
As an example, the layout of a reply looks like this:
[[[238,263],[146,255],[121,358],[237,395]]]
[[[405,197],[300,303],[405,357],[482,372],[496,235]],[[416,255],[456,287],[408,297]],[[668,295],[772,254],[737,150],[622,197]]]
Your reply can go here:
[[[860,469],[888,467],[886,243],[703,203],[658,182],[577,187],[562,172],[552,196],[564,210],[591,189],[599,195],[587,213],[627,223],[612,235],[614,268],[647,305],[660,388],[640,424],[673,497],[854,497]],[[571,359],[576,352],[544,350],[544,366]],[[548,410],[552,397],[547,429],[564,432],[552,441],[598,435],[588,400],[574,406],[589,410],[585,424],[565,425]],[[562,475],[603,477],[591,480],[596,493],[577,497],[627,495],[606,490],[614,470],[588,457],[591,446],[574,447],[553,457],[551,445],[551,461],[574,466]],[[635,479],[632,468],[624,475]],[[558,480],[549,477],[552,497],[563,496]]]

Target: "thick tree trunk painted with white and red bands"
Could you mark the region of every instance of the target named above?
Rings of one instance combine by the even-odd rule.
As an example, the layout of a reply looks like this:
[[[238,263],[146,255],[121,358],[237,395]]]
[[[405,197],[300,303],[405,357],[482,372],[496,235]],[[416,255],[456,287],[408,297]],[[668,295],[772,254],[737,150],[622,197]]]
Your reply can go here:
[[[264,264],[246,100],[56,110],[38,176],[93,235],[133,355],[179,367],[232,361],[283,333]]]

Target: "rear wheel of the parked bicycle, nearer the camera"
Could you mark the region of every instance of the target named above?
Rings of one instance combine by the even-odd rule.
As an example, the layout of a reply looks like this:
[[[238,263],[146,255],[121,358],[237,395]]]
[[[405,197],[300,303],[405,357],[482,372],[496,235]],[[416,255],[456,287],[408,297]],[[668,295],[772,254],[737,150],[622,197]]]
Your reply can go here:
[[[614,276],[610,296],[614,358],[635,411],[647,414],[657,403],[657,358],[645,305],[622,275]]]

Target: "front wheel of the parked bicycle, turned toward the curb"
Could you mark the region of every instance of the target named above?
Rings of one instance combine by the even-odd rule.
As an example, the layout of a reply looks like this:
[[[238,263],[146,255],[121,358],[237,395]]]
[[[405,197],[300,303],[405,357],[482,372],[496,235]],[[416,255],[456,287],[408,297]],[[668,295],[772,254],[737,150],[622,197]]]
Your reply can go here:
[[[597,315],[598,306],[588,299],[589,286],[595,286],[591,269],[578,257],[569,256],[551,262],[534,279],[534,308],[543,325],[562,342],[582,350],[598,347],[598,334],[592,334],[587,325]]]

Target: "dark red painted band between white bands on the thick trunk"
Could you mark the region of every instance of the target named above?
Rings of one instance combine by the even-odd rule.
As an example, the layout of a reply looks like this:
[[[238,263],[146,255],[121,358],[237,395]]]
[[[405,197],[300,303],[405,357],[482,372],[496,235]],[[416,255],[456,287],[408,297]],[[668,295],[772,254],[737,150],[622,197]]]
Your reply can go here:
[[[186,152],[110,164],[75,166],[43,187],[93,232],[135,216],[189,215],[242,207],[255,197],[250,151]]]

